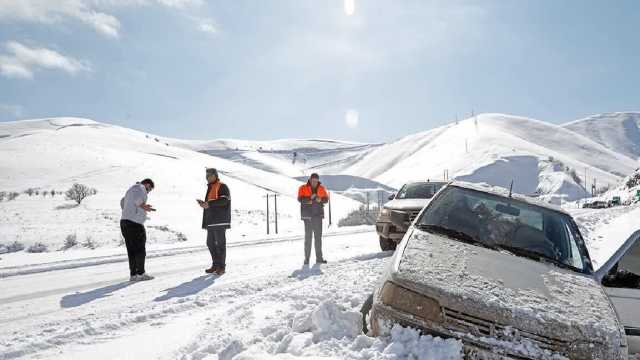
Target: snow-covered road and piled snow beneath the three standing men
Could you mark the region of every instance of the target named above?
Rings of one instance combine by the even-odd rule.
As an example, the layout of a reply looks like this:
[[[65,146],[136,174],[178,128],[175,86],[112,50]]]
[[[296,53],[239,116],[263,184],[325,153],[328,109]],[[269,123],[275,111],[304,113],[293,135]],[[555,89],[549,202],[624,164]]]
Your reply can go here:
[[[385,358],[357,311],[391,254],[374,232],[324,248],[304,269],[299,239],[232,247],[219,278],[206,251],[151,258],[157,278],[134,284],[126,263],[3,278],[0,358]]]

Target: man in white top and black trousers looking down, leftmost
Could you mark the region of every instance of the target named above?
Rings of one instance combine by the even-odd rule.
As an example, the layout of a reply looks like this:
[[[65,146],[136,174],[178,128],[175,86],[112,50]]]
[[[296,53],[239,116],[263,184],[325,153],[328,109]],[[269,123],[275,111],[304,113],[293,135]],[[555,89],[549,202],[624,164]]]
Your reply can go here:
[[[144,179],[130,187],[122,200],[120,200],[120,208],[122,208],[120,230],[127,246],[130,281],[153,279],[153,276],[144,271],[144,261],[147,256],[145,248],[147,232],[144,228],[144,222],[147,220],[147,212],[156,211],[151,205],[147,204],[147,194],[153,188],[153,181]]]

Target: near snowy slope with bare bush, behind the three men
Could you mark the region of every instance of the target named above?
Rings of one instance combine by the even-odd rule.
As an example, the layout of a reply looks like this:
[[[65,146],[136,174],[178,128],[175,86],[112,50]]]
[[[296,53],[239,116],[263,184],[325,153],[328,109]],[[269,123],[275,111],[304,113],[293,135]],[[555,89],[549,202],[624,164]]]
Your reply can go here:
[[[0,192],[21,193],[15,200],[0,202],[0,244],[18,241],[28,247],[42,242],[57,250],[75,234],[80,243],[90,238],[96,246],[117,246],[119,200],[130,185],[146,177],[156,183],[149,203],[158,209],[148,222],[150,244],[184,237],[186,243],[200,244],[202,210],[195,199],[206,190],[205,167],[217,167],[231,189],[230,241],[265,236],[268,192],[283,195],[278,199],[280,233],[302,231],[295,199],[299,181],[171,146],[142,132],[76,118],[5,122],[0,123],[0,153]],[[74,207],[62,195],[23,193],[29,188],[39,193],[64,191],[75,182],[96,188],[97,195]],[[336,194],[334,220],[357,206]]]

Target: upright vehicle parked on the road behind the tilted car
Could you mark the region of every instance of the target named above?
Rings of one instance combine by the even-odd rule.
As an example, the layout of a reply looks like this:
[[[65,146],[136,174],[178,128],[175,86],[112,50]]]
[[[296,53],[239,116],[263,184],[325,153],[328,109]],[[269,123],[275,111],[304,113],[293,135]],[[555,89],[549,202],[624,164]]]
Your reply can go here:
[[[383,251],[395,250],[409,228],[410,221],[418,216],[420,210],[446,184],[433,181],[411,182],[389,197],[391,201],[384,205],[376,220],[376,231]],[[405,214],[408,214],[408,221],[404,221]]]

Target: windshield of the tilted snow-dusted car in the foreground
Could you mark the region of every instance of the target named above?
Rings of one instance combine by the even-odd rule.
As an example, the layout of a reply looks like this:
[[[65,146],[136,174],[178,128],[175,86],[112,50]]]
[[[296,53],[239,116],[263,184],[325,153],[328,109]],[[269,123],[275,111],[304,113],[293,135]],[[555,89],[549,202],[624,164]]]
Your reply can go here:
[[[430,232],[585,272],[580,234],[565,214],[517,199],[450,186],[416,226]]]

